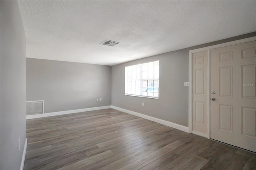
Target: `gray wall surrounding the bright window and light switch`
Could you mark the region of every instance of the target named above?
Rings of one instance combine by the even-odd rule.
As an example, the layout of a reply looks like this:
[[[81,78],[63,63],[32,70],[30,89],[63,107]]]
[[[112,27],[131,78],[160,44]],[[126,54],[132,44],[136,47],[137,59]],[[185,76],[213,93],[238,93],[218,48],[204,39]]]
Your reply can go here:
[[[188,127],[188,51],[256,36],[256,32],[112,66],[112,105]],[[124,67],[159,59],[159,99],[124,95]],[[144,107],[142,107],[144,102]]]

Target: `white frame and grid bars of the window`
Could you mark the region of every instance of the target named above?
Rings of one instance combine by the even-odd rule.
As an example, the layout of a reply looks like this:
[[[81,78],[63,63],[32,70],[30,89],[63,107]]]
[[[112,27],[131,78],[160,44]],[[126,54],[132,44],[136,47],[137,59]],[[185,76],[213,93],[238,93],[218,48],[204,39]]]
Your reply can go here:
[[[154,73],[155,73],[155,71],[158,71],[158,78],[154,78],[153,77],[153,79],[142,79],[142,70],[141,70],[141,65],[143,65],[143,64],[146,64],[146,63],[154,63],[154,62],[156,62],[156,61],[158,61],[158,70],[156,69],[155,70],[155,68],[154,68]],[[125,68],[124,68],[124,73],[125,73],[125,78],[124,78],[124,81],[125,81],[125,89],[124,89],[124,93],[125,93],[125,95],[128,95],[128,96],[136,96],[136,97],[146,97],[146,98],[152,98],[152,99],[159,99],[159,60],[156,60],[156,61],[150,61],[150,62],[146,62],[146,63],[139,63],[139,64],[136,64],[136,65],[129,65],[129,66],[126,66]],[[136,67],[136,79],[133,79],[133,80],[135,80],[135,81],[140,81],[140,94],[138,95],[138,94],[133,94],[133,93],[127,93],[127,88],[128,88],[128,73],[127,73],[127,71],[128,71],[128,69],[129,69],[129,67]],[[139,71],[137,71],[137,69],[138,69],[138,67],[139,67]],[[139,77],[139,79],[137,79],[137,72],[139,72],[140,73],[140,77]],[[147,72],[148,72],[148,70],[147,70]],[[156,96],[148,96],[148,95],[143,95],[142,94],[142,83],[143,83],[143,81],[144,80],[147,80],[147,81],[155,81],[155,80],[157,80],[158,81],[158,97],[156,97]],[[154,92],[154,86],[153,86],[153,94],[154,93],[157,93],[157,92]]]

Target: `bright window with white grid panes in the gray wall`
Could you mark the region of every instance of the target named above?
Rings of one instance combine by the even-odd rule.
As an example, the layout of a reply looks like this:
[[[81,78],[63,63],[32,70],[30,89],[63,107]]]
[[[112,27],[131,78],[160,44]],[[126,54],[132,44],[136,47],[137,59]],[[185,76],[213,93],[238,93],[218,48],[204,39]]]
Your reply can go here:
[[[159,61],[125,67],[125,95],[158,99]]]

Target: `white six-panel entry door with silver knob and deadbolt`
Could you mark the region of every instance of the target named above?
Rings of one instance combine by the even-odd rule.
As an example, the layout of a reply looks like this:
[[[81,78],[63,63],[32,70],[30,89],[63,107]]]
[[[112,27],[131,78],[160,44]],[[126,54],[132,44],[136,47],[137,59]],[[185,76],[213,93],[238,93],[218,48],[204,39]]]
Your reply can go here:
[[[210,138],[256,152],[256,41],[210,51]]]

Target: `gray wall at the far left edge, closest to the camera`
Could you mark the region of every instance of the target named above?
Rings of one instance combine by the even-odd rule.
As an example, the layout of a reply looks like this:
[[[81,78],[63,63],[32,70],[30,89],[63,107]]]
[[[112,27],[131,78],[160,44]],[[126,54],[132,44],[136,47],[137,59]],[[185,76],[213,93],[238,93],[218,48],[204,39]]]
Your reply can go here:
[[[1,170],[18,170],[26,140],[26,37],[18,2],[0,3]]]

